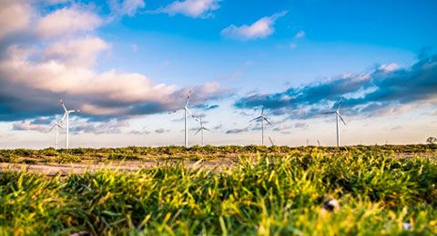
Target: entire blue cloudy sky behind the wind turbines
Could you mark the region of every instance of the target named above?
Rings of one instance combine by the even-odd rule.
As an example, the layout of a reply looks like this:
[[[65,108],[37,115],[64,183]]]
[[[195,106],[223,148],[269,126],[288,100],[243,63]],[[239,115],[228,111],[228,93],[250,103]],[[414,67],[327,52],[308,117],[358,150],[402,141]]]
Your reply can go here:
[[[0,148],[425,143],[437,2],[2,0]],[[188,117],[188,143],[200,144]],[[65,123],[63,123],[65,127]],[[59,147],[65,147],[60,131]]]

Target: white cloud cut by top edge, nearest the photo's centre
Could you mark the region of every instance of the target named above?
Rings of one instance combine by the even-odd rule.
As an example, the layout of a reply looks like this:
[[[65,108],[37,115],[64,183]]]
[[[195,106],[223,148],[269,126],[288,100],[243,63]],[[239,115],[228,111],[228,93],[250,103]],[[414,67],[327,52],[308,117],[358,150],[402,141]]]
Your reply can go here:
[[[166,13],[168,15],[187,15],[192,18],[208,18],[212,16],[212,11],[219,9],[220,0],[185,0],[174,1],[173,3],[161,7],[149,13]]]

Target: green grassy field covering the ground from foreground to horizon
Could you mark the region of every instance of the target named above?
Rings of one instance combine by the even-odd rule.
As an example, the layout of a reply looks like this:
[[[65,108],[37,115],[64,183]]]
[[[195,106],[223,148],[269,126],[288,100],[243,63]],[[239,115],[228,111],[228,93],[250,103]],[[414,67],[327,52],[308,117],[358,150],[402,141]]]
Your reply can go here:
[[[1,150],[4,166],[156,164],[4,167],[0,234],[435,235],[436,160],[437,145]]]

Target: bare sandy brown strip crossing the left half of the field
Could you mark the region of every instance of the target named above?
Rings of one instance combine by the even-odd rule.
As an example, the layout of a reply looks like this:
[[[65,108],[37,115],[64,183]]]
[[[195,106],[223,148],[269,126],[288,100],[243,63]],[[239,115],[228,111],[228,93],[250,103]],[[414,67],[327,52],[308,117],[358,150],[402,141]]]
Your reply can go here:
[[[139,169],[152,168],[156,166],[163,166],[174,164],[177,161],[135,161],[135,162],[100,162],[100,163],[70,163],[70,164],[25,164],[25,163],[7,163],[0,162],[0,172],[27,170],[28,172],[38,172],[46,174],[47,176],[55,176],[60,174],[65,176],[69,173],[84,173],[96,172],[98,170],[117,170],[119,172],[135,172]],[[227,170],[233,166],[231,160],[212,160],[212,161],[183,161],[187,168],[205,168],[211,171]]]

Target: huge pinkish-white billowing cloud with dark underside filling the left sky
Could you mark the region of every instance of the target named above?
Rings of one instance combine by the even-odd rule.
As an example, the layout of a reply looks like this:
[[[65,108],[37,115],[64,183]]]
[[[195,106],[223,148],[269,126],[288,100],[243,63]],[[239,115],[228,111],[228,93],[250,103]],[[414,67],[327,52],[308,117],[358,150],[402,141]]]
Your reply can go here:
[[[2,4],[0,10],[7,6]],[[102,22],[98,15],[80,7],[66,6],[36,17],[41,37],[20,34],[16,40],[0,39],[0,121],[63,113],[59,96],[69,109],[82,110],[82,117],[108,120],[177,109],[190,89],[191,105],[233,93],[217,82],[178,88],[155,83],[143,74],[116,69],[97,72],[97,59],[111,44],[94,35]],[[37,15],[38,9],[31,11]],[[25,28],[31,31],[33,25]]]

